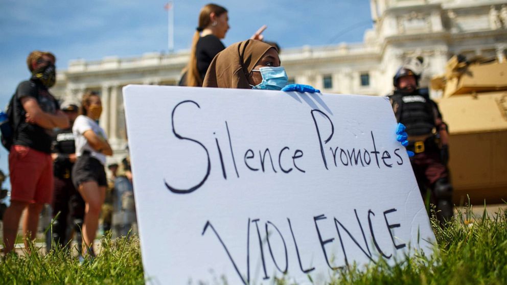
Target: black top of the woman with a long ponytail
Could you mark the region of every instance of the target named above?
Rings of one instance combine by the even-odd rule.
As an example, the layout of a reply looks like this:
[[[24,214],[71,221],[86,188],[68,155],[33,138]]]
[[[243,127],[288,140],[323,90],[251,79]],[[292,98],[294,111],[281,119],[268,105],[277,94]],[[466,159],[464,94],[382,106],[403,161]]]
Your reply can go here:
[[[213,58],[224,49],[225,45],[214,35],[199,38],[195,47],[195,56],[197,58],[197,69],[202,79],[204,79]]]

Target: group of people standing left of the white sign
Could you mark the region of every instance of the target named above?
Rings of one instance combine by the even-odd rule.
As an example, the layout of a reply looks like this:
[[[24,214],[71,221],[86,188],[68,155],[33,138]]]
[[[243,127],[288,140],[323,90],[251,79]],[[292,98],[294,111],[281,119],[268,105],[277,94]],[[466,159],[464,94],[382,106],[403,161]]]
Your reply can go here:
[[[121,179],[114,164],[109,165],[109,180],[106,177],[106,156],[112,155],[112,149],[98,124],[100,96],[87,92],[81,104],[63,102],[60,106],[48,90],[55,84],[55,61],[50,52],[30,53],[27,64],[32,76],[18,85],[8,106],[12,136],[3,133],[3,143],[9,149],[11,197],[3,216],[5,254],[14,248],[25,210],[22,231],[29,248],[44,204],[52,208],[48,249],[69,246],[76,236],[80,256],[94,256],[93,242],[102,208],[106,209],[104,229],[111,228],[112,210],[108,211],[104,202],[107,193],[112,208],[112,192],[116,180]],[[127,164],[122,165],[122,178],[128,176],[131,185]]]

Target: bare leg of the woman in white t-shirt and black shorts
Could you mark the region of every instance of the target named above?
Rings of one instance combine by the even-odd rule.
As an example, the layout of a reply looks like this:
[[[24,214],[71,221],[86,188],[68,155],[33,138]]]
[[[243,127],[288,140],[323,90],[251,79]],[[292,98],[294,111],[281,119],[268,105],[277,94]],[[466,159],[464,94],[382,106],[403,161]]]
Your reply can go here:
[[[99,216],[102,204],[105,199],[106,187],[100,186],[96,181],[87,181],[79,185],[79,193],[85,201],[83,220],[83,246],[88,251],[93,246],[97,228],[99,227]]]

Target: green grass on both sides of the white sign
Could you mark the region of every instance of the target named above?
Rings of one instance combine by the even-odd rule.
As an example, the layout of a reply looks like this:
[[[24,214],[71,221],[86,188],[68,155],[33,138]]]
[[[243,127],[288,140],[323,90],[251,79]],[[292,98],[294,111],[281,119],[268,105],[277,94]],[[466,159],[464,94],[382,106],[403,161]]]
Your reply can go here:
[[[384,260],[337,271],[331,284],[507,284],[507,211],[471,217],[466,208],[445,229],[432,219],[439,246],[432,256]],[[34,251],[36,252],[36,251]],[[1,284],[143,284],[139,239],[102,239],[93,261],[79,264],[66,251],[8,256],[0,262]],[[277,284],[290,284],[278,280]]]

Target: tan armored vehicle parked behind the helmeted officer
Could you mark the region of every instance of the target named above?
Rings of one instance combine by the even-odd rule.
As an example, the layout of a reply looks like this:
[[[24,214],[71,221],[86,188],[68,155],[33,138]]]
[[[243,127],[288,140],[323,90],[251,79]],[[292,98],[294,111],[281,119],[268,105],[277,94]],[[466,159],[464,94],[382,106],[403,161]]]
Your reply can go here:
[[[454,203],[507,201],[507,62],[454,56],[431,80],[449,126]]]

